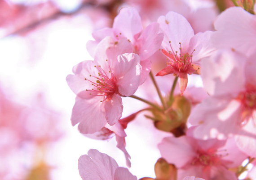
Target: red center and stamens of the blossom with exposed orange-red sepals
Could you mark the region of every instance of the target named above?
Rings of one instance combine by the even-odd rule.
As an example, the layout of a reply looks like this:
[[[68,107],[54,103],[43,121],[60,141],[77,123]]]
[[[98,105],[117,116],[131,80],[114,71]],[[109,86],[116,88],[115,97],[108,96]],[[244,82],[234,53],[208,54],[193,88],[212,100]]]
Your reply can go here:
[[[169,41],[171,49],[172,49],[172,45],[171,42]],[[165,54],[169,59],[168,64],[170,64],[170,66],[178,71],[178,72],[188,72],[188,74],[191,74],[191,72],[193,71],[197,71],[193,69],[193,64],[192,64],[192,57],[193,57],[193,52],[195,50],[193,50],[190,54],[188,52],[184,53],[182,51],[182,47],[181,47],[181,42],[180,44],[180,53],[178,53],[178,51],[175,51],[172,49],[172,51],[167,52],[166,50],[162,49],[163,54]]]

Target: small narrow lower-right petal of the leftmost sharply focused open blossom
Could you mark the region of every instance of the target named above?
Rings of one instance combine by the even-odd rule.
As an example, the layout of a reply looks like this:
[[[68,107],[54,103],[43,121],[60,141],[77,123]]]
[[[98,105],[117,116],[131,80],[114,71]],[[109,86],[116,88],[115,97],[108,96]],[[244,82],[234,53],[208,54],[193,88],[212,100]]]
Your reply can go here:
[[[113,94],[111,100],[104,103],[104,108],[106,121],[110,126],[113,126],[122,117],[124,108],[122,98],[117,94]]]

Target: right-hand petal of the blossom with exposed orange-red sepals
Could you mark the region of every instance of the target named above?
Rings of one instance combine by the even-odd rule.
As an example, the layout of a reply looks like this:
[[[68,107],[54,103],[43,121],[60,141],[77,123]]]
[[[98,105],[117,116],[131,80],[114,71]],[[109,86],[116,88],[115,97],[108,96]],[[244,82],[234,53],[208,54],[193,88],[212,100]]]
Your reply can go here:
[[[197,33],[190,39],[188,53],[193,52],[193,64],[199,64],[202,58],[212,55],[216,48],[211,43],[212,31]]]

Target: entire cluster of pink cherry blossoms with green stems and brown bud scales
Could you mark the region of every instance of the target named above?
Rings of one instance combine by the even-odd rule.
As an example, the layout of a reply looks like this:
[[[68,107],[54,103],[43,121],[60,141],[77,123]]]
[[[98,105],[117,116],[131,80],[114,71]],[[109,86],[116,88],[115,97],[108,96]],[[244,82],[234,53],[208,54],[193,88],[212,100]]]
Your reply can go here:
[[[94,60],[75,65],[74,75],[66,77],[76,94],[72,125],[79,123],[79,132],[91,138],[115,136],[131,167],[124,130],[147,111],[158,130],[170,133],[158,146],[162,158],[155,165],[157,180],[238,180],[247,168],[243,161],[256,158],[256,17],[251,13],[228,8],[216,18],[216,31],[204,27],[200,32],[197,26],[194,34],[181,14],[170,11],[143,29],[135,8],[121,8],[113,27],[93,32],[95,41],[87,43]],[[160,63],[152,60],[157,53],[167,66],[154,74]],[[202,78],[203,89],[187,88],[191,74]],[[166,96],[155,75],[172,84]],[[148,76],[161,103],[134,95]],[[122,118],[122,98],[127,96],[149,107]],[[93,149],[79,158],[78,168],[83,180],[137,180]]]

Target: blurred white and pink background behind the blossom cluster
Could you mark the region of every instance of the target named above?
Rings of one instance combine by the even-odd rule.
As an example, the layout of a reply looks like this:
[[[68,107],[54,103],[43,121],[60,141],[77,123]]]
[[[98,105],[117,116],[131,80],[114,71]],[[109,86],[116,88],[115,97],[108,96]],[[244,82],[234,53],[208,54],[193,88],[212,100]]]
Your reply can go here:
[[[216,16],[231,5],[228,0],[0,0],[0,180],[81,180],[78,159],[91,148],[126,167],[115,138],[90,139],[71,126],[75,94],[66,75],[75,64],[92,60],[86,50],[92,32],[111,27],[122,7],[137,8],[145,26],[176,11],[195,33],[204,32],[214,30]],[[154,73],[166,64],[161,54],[151,61]],[[200,78],[190,78],[202,86]],[[157,100],[149,84],[147,80],[136,94],[145,96],[146,88]],[[172,85],[162,84],[163,93]],[[123,117],[146,107],[129,98],[123,104]],[[126,134],[130,172],[138,179],[155,177],[157,144],[169,134],[156,130],[143,114],[128,125]]]

